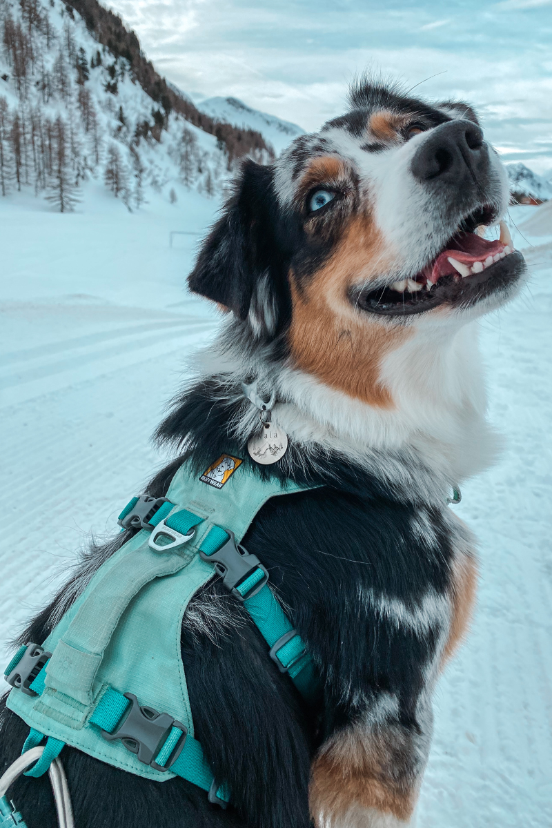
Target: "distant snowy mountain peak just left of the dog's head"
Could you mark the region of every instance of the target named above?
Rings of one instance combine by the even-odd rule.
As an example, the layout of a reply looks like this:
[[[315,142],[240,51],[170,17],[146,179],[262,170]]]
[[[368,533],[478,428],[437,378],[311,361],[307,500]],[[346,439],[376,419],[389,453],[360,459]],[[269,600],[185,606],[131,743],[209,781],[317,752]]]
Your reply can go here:
[[[209,98],[196,103],[196,106],[202,113],[210,115],[215,120],[261,132],[278,155],[295,137],[305,134],[305,130],[296,123],[282,121],[281,118],[276,118],[276,115],[252,109],[237,98]]]

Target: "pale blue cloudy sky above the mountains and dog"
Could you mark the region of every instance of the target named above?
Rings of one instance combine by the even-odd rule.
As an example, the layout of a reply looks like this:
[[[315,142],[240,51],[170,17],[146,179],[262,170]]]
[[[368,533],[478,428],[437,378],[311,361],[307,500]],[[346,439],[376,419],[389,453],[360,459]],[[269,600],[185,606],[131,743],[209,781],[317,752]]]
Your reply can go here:
[[[105,0],[104,0],[105,2]],[[161,75],[314,131],[371,69],[474,103],[505,161],[552,175],[552,0],[111,0]]]

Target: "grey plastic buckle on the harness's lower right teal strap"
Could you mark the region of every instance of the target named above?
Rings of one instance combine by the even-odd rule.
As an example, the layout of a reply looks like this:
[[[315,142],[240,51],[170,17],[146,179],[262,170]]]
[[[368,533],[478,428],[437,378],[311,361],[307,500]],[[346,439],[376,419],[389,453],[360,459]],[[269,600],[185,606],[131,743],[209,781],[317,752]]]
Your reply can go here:
[[[188,728],[185,724],[173,719],[168,713],[159,713],[153,707],[147,707],[146,705],[141,707],[133,693],[125,693],[124,696],[132,701],[130,710],[128,710],[125,719],[119,724],[115,733],[109,733],[108,730],[101,731],[103,738],[108,739],[108,742],[121,739],[127,750],[137,754],[140,762],[150,765],[156,771],[166,773],[180,756],[188,735]],[[179,728],[182,735],[170,752],[166,763],[158,765],[155,757],[165,744],[166,738],[173,727]]]

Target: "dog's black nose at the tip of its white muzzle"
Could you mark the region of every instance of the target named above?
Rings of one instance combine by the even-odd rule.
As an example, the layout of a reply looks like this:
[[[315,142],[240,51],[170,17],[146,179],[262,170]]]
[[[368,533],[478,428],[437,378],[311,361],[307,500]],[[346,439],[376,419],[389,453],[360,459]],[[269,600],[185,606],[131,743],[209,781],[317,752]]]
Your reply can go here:
[[[419,181],[475,179],[487,166],[487,144],[482,129],[471,121],[449,121],[430,132],[412,159],[412,172]]]

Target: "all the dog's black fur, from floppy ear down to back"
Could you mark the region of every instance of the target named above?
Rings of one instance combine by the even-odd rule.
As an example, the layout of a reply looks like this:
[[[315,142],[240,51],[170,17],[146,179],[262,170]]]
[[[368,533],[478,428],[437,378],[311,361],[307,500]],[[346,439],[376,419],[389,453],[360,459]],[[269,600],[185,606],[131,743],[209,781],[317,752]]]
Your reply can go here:
[[[353,105],[359,111],[363,100],[358,90]],[[403,105],[396,98],[392,103],[395,109]],[[361,115],[347,118],[353,130],[360,128]],[[291,161],[303,163],[303,152],[305,142],[299,141]],[[292,267],[298,277],[305,276],[331,245],[331,239],[305,241],[305,205],[281,209],[272,176],[270,169],[246,163],[239,188],[190,277],[192,290],[233,310],[238,320],[256,316],[257,332],[238,321],[231,335],[241,338],[244,351],[256,349],[261,339],[265,360],[267,354],[271,359],[286,355],[287,272]],[[406,741],[414,744],[426,727],[416,705],[444,631],[436,621],[416,632],[378,607],[397,600],[414,610],[429,590],[437,596],[449,590],[453,551],[441,511],[425,507],[414,490],[386,484],[343,457],[322,450],[305,456],[293,440],[285,464],[253,464],[232,427],[248,403],[237,402],[236,388],[224,397],[224,382],[206,380],[175,403],[157,438],[185,455],[157,474],[148,492],[166,494],[184,457],[200,474],[223,452],[242,457],[262,478],[290,477],[319,487],[267,503],[243,543],[269,570],[271,585],[319,669],[323,692],[317,704],[307,707],[271,662],[241,606],[218,582],[209,585],[194,597],[185,617],[182,659],[196,735],[218,781],[231,787],[233,806],[223,812],[180,779],[147,781],[66,747],[61,756],[79,828],[307,828],[310,762],[324,739],[358,724],[384,695],[397,700],[389,723]],[[416,518],[432,527],[433,542],[415,531]],[[84,587],[94,562],[99,566],[131,534],[94,547],[73,585],[60,590],[20,640],[43,642],[78,593],[76,585]],[[201,608],[209,592],[233,622],[192,629],[187,618],[205,612]],[[5,708],[0,726],[2,771],[21,752],[27,728]],[[55,828],[45,777],[22,778],[10,796],[28,828]]]

